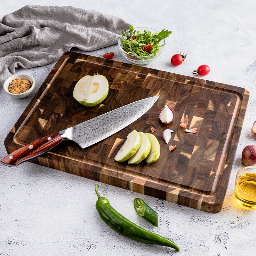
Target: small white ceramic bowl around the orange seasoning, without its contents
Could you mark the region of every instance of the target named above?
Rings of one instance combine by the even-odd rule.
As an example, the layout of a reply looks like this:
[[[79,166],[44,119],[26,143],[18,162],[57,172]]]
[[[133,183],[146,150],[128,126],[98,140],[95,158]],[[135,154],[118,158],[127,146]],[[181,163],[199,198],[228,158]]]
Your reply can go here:
[[[22,92],[22,93],[11,93],[8,91],[8,86],[9,84],[12,82],[13,79],[20,79],[20,78],[25,78],[28,79],[31,82],[31,87],[28,89],[28,91],[26,92]],[[15,99],[23,99],[25,97],[27,97],[31,92],[33,92],[34,88],[35,88],[35,79],[33,78],[33,76],[27,75],[27,74],[15,74],[10,76],[9,78],[7,78],[4,82],[4,91],[10,95],[12,98]]]

